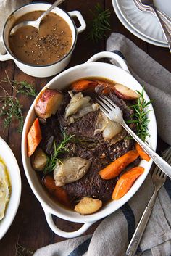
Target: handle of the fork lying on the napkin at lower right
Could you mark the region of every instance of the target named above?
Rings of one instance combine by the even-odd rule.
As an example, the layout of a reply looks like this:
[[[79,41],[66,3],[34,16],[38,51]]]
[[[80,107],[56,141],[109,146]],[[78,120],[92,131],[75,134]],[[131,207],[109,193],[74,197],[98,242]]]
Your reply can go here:
[[[143,215],[141,217],[141,220],[138,223],[137,228],[135,229],[135,232],[133,234],[132,239],[130,240],[130,244],[128,245],[128,249],[125,253],[125,256],[134,256],[137,249],[138,245],[140,244],[141,238],[143,236],[143,232],[146,229],[146,225],[149,221],[149,217],[151,215],[152,208],[151,207],[146,207]]]

